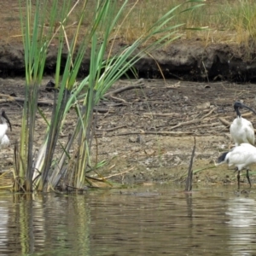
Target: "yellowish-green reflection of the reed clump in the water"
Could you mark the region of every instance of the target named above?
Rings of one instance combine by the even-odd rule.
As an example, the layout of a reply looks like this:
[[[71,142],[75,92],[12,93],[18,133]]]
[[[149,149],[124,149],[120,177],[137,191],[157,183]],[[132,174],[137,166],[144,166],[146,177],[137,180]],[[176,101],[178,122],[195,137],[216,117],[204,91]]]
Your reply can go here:
[[[14,203],[6,205],[8,233],[0,234],[0,243],[7,243],[0,255],[70,255],[74,248],[77,255],[88,255],[90,218],[84,196],[15,195]]]

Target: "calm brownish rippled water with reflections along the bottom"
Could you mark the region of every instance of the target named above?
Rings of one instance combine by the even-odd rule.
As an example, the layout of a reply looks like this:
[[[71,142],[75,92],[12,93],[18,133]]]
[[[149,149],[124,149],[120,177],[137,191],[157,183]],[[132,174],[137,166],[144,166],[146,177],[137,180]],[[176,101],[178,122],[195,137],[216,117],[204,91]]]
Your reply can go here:
[[[256,194],[162,185],[0,195],[0,255],[256,255]]]

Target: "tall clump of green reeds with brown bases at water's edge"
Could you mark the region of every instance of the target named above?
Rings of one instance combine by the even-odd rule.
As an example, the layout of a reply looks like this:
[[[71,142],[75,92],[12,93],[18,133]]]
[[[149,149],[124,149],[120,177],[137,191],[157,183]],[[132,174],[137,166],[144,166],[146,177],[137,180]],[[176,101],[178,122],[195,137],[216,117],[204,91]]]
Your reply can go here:
[[[96,0],[88,8],[89,1],[71,0],[36,1],[35,8],[26,0],[26,15],[21,16],[23,44],[26,63],[26,101],[24,103],[20,145],[15,147],[15,190],[38,191],[50,189],[84,189],[91,184],[89,172],[96,172],[98,165],[90,160],[91,143],[94,138],[94,107],[111,86],[144,55],[164,44],[172,42],[175,30],[184,24],[173,22],[177,11],[183,12],[183,4],[168,9],[165,15],[157,17],[130,45],[113,53],[113,46],[119,36],[119,27],[136,8],[135,1],[127,8],[128,0]],[[191,0],[187,10],[196,9],[203,1]],[[21,2],[20,2],[21,6]],[[21,9],[21,8],[20,8]],[[70,35],[69,17],[79,9],[76,30]],[[84,17],[91,16],[91,23],[84,25]],[[48,24],[47,31],[45,24]],[[119,24],[119,26],[117,26]],[[81,37],[83,35],[83,37]],[[110,38],[112,40],[110,40]],[[56,43],[57,42],[57,43]],[[109,43],[112,42],[112,43]],[[58,48],[55,68],[55,100],[51,119],[38,108],[38,89],[44,75],[44,66],[49,44]],[[143,45],[143,47],[142,47]],[[67,60],[61,62],[63,50]],[[76,79],[85,52],[90,52],[90,73],[80,83]],[[61,65],[64,71],[61,76]],[[67,144],[59,142],[59,135],[71,108],[77,113],[77,123]],[[36,114],[41,114],[46,123],[44,143],[34,155],[34,132]],[[61,153],[56,146],[61,144]],[[73,154],[70,149],[75,148]],[[53,157],[57,156],[54,164]]]

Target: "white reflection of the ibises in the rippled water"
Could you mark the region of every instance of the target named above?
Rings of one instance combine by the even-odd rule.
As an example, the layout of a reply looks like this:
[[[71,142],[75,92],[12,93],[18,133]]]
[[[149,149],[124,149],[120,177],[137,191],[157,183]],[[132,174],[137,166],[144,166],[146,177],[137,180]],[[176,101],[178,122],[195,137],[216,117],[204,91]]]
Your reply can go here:
[[[230,250],[241,255],[255,255],[256,202],[251,198],[232,198],[226,214],[230,230]],[[254,253],[254,254],[253,254]]]

